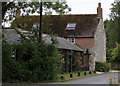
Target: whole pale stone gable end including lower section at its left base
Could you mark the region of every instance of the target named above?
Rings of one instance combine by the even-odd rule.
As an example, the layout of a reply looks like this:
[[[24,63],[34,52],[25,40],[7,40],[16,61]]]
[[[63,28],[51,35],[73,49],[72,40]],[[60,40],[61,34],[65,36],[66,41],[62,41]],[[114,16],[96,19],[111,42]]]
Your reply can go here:
[[[95,69],[95,61],[106,62],[106,34],[103,19],[100,19],[96,33],[95,46],[90,49],[90,69]],[[93,62],[94,61],[94,62]]]

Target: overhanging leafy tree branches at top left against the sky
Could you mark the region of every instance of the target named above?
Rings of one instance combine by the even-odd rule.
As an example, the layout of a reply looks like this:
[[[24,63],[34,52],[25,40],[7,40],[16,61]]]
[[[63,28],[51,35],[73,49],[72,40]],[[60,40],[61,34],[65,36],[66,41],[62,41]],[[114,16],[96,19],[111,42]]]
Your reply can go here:
[[[2,2],[2,20],[12,20],[16,16],[16,12],[20,9],[23,10],[22,15],[29,15],[35,12],[40,13],[39,2],[18,2],[17,0],[12,0],[12,2]],[[66,2],[44,2],[43,9],[45,14],[52,14],[55,11],[58,14],[64,14],[71,11]],[[6,15],[8,13],[9,15]]]

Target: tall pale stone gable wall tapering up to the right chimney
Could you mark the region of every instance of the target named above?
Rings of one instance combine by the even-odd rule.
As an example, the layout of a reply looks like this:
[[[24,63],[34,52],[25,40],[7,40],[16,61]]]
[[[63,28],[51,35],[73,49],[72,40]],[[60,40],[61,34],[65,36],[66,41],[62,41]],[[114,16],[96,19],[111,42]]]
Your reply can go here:
[[[95,34],[95,61],[106,62],[106,34],[101,19]]]

